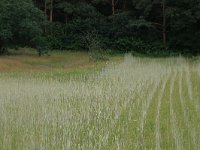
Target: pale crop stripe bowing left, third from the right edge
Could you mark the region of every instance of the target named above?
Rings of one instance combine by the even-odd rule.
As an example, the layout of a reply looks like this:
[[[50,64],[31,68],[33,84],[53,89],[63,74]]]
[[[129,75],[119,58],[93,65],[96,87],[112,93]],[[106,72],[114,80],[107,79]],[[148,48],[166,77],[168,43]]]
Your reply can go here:
[[[169,96],[170,124],[171,124],[171,133],[172,133],[173,139],[175,141],[175,147],[176,147],[177,150],[183,150],[181,135],[179,133],[180,131],[178,129],[177,120],[176,120],[176,114],[174,113],[174,108],[173,108],[173,104],[172,104],[172,96],[173,96],[176,76],[177,76],[177,73],[175,72],[172,79],[171,79],[171,83],[170,83],[170,96]]]

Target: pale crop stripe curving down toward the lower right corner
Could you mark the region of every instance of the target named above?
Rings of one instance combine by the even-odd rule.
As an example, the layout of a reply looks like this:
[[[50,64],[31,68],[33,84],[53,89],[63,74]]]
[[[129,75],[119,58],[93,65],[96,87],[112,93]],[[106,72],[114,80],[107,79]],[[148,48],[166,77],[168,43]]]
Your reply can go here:
[[[183,68],[180,68],[180,74],[179,74],[179,100],[181,103],[181,108],[182,108],[182,113],[183,113],[183,121],[184,124],[186,125],[189,135],[191,136],[191,142],[193,144],[193,146],[195,146],[197,144],[197,139],[196,139],[196,133],[195,130],[191,127],[190,124],[190,120],[189,120],[189,115],[186,112],[187,111],[187,107],[185,105],[185,98],[183,97]]]

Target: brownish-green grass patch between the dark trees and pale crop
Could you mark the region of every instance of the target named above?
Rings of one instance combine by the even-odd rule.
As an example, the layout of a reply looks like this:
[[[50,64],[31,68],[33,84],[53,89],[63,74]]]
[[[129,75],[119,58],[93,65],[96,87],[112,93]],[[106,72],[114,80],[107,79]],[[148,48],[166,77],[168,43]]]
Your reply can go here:
[[[51,51],[50,56],[37,56],[36,50],[9,50],[12,55],[0,57],[0,76],[66,80],[87,78],[109,63],[123,61],[122,55],[110,56],[110,61],[89,61],[86,52]]]

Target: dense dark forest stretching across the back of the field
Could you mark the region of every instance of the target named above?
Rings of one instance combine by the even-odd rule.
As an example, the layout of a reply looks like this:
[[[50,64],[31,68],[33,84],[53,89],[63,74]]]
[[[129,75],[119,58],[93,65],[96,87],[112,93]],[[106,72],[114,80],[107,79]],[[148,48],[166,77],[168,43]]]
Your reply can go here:
[[[8,47],[197,54],[199,0],[0,0]]]

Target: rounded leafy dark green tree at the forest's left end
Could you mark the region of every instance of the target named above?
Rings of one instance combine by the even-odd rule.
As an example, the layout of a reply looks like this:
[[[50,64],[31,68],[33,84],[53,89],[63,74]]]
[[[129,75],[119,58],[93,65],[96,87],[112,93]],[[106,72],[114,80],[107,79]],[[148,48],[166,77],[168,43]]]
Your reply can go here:
[[[28,45],[42,34],[43,13],[33,5],[32,0],[0,1],[0,42]]]

